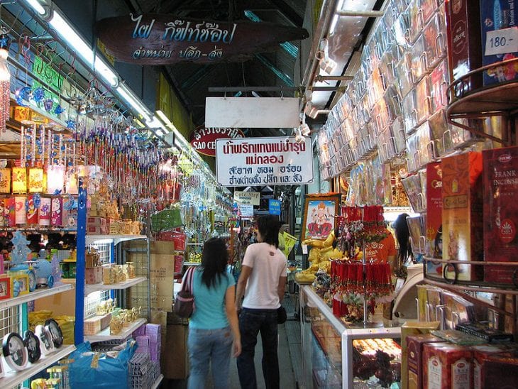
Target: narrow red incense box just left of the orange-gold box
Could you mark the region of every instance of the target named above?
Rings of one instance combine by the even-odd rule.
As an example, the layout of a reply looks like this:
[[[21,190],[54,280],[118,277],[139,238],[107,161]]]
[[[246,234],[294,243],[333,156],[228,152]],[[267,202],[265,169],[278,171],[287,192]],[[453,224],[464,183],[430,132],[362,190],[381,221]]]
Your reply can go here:
[[[443,257],[443,172],[441,163],[426,165],[426,256]],[[442,278],[442,263],[427,262],[426,274]]]

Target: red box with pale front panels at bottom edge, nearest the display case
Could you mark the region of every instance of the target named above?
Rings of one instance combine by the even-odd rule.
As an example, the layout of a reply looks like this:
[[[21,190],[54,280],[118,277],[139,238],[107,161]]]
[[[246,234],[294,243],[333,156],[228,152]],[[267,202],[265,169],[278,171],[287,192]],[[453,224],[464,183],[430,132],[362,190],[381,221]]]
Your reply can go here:
[[[473,353],[467,347],[449,343],[423,344],[423,388],[471,387]]]

